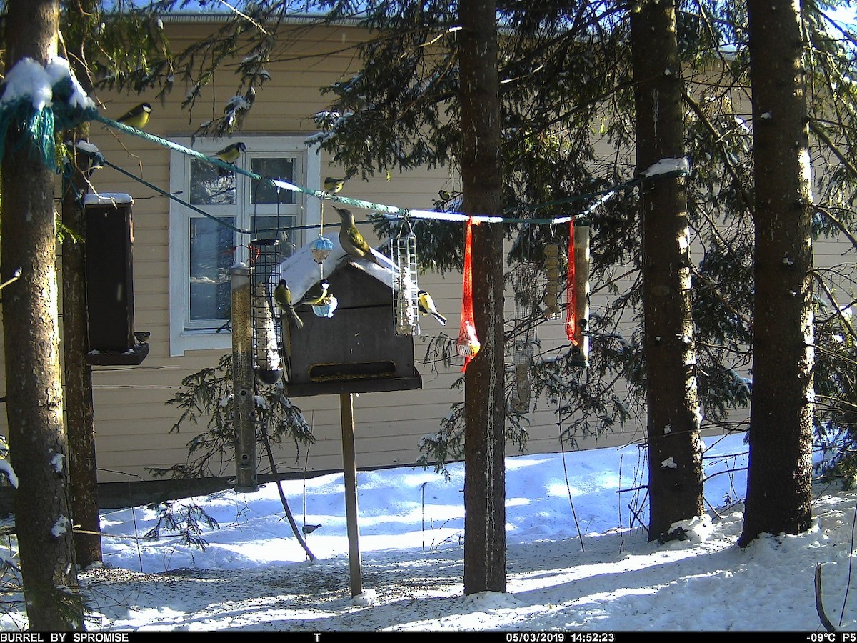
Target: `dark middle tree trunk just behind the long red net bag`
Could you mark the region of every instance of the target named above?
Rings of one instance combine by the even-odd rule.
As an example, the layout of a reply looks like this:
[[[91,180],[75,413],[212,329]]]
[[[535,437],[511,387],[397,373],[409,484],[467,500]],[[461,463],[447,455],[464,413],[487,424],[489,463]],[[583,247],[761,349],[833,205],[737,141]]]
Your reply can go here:
[[[465,213],[500,214],[500,99],[493,0],[461,0],[461,182]],[[506,591],[503,237],[473,230],[473,314],[482,344],[464,376],[464,593]]]

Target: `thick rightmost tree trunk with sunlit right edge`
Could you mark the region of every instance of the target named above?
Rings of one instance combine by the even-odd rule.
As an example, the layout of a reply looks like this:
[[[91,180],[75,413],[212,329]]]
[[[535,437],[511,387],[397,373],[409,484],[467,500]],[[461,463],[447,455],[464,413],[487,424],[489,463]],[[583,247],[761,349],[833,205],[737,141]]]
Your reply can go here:
[[[756,256],[744,546],[812,521],[812,193],[800,10],[748,0]]]

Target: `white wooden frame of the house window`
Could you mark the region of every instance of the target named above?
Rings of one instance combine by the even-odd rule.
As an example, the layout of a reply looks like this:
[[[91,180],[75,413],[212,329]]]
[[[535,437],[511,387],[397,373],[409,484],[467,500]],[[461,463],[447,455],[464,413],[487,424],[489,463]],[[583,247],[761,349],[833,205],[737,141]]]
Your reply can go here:
[[[321,189],[321,154],[318,148],[307,144],[309,135],[271,135],[242,136],[234,139],[174,138],[173,141],[184,147],[191,147],[203,154],[212,154],[231,142],[243,141],[246,150],[237,160],[237,166],[250,170],[253,158],[271,158],[295,156],[297,158],[294,183],[309,189]],[[187,154],[171,150],[170,153],[170,192],[178,194],[182,200],[189,201],[190,157]],[[216,206],[201,207],[212,214],[228,214],[228,208],[235,208],[237,228],[248,229],[254,212],[259,216],[270,215],[272,206],[254,207],[250,202],[254,182],[243,174],[236,175],[236,206],[224,206],[220,212]],[[313,196],[296,193],[297,225],[319,225],[321,223],[321,203]],[[291,206],[290,206],[291,207]],[[243,209],[242,209],[243,208]],[[276,206],[273,206],[274,210]],[[189,207],[170,200],[170,355],[181,357],[185,351],[207,349],[228,349],[231,347],[231,331],[216,328],[189,328],[186,323],[190,302],[190,285],[187,275],[190,263],[189,225],[192,216],[201,216]],[[297,247],[306,243],[306,231],[296,231],[292,243]],[[237,246],[235,261],[247,261],[249,234],[235,233]]]

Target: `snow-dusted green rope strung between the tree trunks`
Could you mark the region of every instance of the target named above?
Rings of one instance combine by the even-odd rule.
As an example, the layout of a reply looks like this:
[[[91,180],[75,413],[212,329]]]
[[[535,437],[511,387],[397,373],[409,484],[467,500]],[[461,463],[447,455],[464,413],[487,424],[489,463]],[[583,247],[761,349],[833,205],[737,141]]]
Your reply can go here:
[[[427,219],[459,220],[459,219],[450,219],[450,217],[460,217],[461,218],[460,220],[466,220],[466,219],[470,218],[470,215],[466,215],[466,214],[462,214],[462,213],[447,213],[447,212],[433,212],[433,211],[430,212],[430,211],[423,211],[423,210],[414,210],[412,208],[390,206],[390,205],[386,205],[383,203],[376,203],[373,201],[363,201],[361,199],[353,199],[349,196],[341,196],[338,194],[332,194],[332,193],[329,193],[329,192],[326,192],[326,191],[323,191],[320,189],[306,188],[306,187],[303,187],[300,185],[296,185],[295,183],[289,183],[289,182],[282,180],[282,179],[274,179],[272,177],[262,177],[261,175],[256,174],[255,172],[244,170],[243,168],[237,167],[236,165],[232,165],[230,163],[226,163],[225,161],[222,161],[220,159],[214,159],[210,156],[207,156],[206,154],[203,154],[201,152],[197,152],[193,149],[190,149],[189,147],[184,147],[183,145],[179,145],[178,143],[175,143],[173,141],[168,141],[165,138],[161,138],[159,136],[149,134],[148,132],[144,132],[141,129],[129,127],[128,125],[125,125],[123,123],[118,123],[117,121],[114,121],[111,118],[103,117],[100,115],[95,115],[93,117],[93,120],[99,121],[99,123],[104,123],[105,125],[107,125],[109,127],[119,129],[119,130],[121,130],[127,134],[139,136],[142,139],[149,141],[149,142],[152,142],[156,145],[160,145],[161,147],[167,147],[167,148],[174,150],[178,153],[183,153],[186,156],[189,156],[193,159],[198,159],[198,160],[207,162],[211,165],[215,165],[217,167],[223,168],[225,170],[232,171],[232,172],[235,172],[237,174],[241,174],[243,176],[249,177],[249,178],[253,179],[254,181],[262,181],[262,182],[266,182],[266,183],[271,183],[273,185],[273,187],[275,187],[276,189],[289,189],[291,191],[300,192],[300,193],[305,194],[305,195],[315,196],[315,198],[320,199],[320,200],[337,201],[337,202],[343,203],[345,205],[351,205],[354,207],[361,207],[361,208],[368,209],[368,210],[374,210],[375,213],[380,213],[380,214],[386,216],[388,219],[393,219],[393,220],[395,220],[395,219],[406,219],[406,218],[409,218],[411,216],[417,215],[419,213],[426,214],[427,216],[423,216],[422,218],[427,218]],[[173,195],[164,189],[160,189],[158,186],[154,185],[153,183],[150,183],[141,177],[136,177],[134,174],[131,174],[129,171],[123,170],[121,167],[106,161],[105,159],[103,159],[103,157],[99,158],[99,160],[101,162],[103,162],[104,165],[107,165],[107,166],[123,173],[125,176],[127,176],[129,178],[133,178],[138,183],[142,183],[142,184],[146,185],[147,188],[153,189],[155,192],[158,192],[161,195],[165,195],[165,196],[169,197],[171,200],[182,204],[184,207],[188,207],[189,209],[191,209],[195,213],[199,213],[203,216],[208,217],[209,219],[213,219],[213,220],[217,221],[220,225],[224,225],[225,227],[230,228],[232,231],[235,231],[235,232],[240,233],[240,234],[252,234],[253,233],[249,230],[245,230],[242,228],[238,228],[235,225],[231,225],[230,223],[227,223],[222,218],[217,217],[211,213],[207,213],[204,210],[201,210],[201,208],[199,208],[199,207],[195,207],[195,206],[191,205],[187,201],[180,199],[177,195]],[[657,174],[657,175],[650,176],[650,177],[637,177],[637,178],[634,178],[632,180],[626,181],[624,183],[616,184],[613,187],[610,187],[607,189],[602,189],[602,190],[598,190],[596,192],[591,192],[591,193],[582,194],[582,195],[569,196],[566,198],[556,199],[554,201],[539,203],[539,204],[532,205],[532,206],[524,206],[521,209],[537,210],[537,209],[541,209],[543,207],[553,207],[553,206],[557,206],[557,205],[565,205],[568,203],[574,203],[574,202],[578,202],[578,201],[590,201],[592,199],[596,199],[595,203],[590,205],[590,207],[586,208],[586,210],[584,211],[584,215],[578,215],[578,216],[588,216],[591,213],[591,211],[593,209],[595,209],[595,207],[601,205],[604,201],[607,201],[608,198],[612,197],[613,195],[615,195],[616,193],[618,193],[624,189],[632,188],[632,187],[637,186],[639,184],[645,183],[646,181],[653,180],[657,177],[670,177],[670,176],[674,177],[674,176],[681,176],[684,174],[686,174],[685,171],[674,170],[674,171],[668,171],[668,172],[664,172],[662,174]],[[524,218],[520,218],[520,217],[507,217],[507,216],[496,216],[496,217],[495,216],[490,216],[490,217],[474,216],[473,218],[474,219],[483,219],[483,220],[486,220],[490,223],[523,223],[523,224],[528,224],[528,225],[557,225],[560,223],[566,223],[569,219],[571,219],[571,217],[567,217],[567,216],[566,217],[560,217],[560,218],[554,218],[554,219],[524,219]],[[283,230],[307,230],[307,229],[313,229],[313,228],[318,228],[318,227],[320,227],[320,226],[319,225],[296,225],[296,226],[290,226],[287,228],[283,228]]]

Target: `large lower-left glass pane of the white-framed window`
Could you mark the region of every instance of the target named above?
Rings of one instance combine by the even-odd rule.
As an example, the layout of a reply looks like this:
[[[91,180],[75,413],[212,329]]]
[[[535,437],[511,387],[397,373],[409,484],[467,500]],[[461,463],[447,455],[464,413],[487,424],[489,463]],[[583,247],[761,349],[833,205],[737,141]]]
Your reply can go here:
[[[232,224],[232,217],[223,217]],[[225,320],[231,307],[232,231],[203,217],[190,219],[190,321]]]

